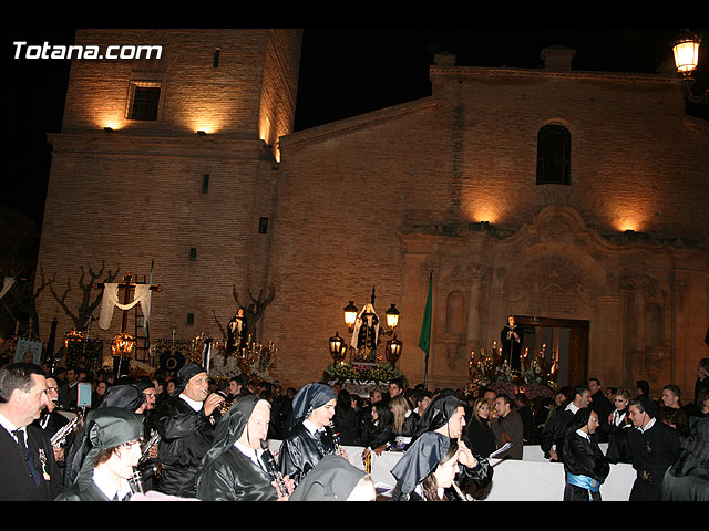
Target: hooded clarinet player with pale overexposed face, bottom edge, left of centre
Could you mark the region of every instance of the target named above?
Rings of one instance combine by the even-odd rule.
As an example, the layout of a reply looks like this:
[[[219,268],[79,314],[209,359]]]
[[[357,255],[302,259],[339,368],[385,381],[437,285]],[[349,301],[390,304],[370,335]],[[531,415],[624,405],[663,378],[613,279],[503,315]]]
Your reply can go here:
[[[263,449],[270,404],[240,397],[216,425],[214,446],[202,459],[197,498],[203,501],[285,501],[294,481],[278,477],[273,456]],[[269,459],[270,458],[270,459]],[[269,460],[270,466],[269,468]]]

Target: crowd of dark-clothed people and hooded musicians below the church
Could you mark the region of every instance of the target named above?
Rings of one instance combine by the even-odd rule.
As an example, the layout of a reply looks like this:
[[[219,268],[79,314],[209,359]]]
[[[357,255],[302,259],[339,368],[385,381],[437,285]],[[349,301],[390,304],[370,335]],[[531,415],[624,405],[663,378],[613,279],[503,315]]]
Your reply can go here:
[[[92,389],[83,407],[80,383]],[[0,368],[0,499],[376,500],[351,458],[384,451],[401,452],[387,499],[484,499],[490,460],[536,445],[563,464],[564,500],[600,500],[618,462],[637,471],[629,500],[707,500],[709,358],[693,391],[686,399],[667,385],[654,399],[647,382],[592,378],[531,402],[399,379],[362,397],[339,384],[213,378],[194,363],[143,378],[13,363]],[[76,413],[75,426],[60,410]]]

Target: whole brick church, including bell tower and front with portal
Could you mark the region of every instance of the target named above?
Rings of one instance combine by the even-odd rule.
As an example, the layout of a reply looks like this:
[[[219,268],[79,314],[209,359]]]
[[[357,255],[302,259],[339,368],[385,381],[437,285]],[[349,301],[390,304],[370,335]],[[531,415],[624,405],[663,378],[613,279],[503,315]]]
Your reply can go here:
[[[380,316],[401,311],[410,383],[464,385],[471,351],[513,314],[538,332],[534,348],[544,331],[566,334],[565,383],[692,388],[709,323],[709,126],[685,115],[672,74],[578,72],[562,48],[535,70],[443,53],[430,96],[294,133],[299,32],[78,41],[124,35],[165,42],[167,56],[74,61],[51,138],[45,274],[101,261],[146,274],[154,260],[156,336],[218,336],[233,287],[273,287],[258,333],[279,346],[285,385],[320,377],[328,337],[349,340],[342,308],[376,288]],[[162,83],[150,123],[125,117],[135,81]],[[112,132],[109,111],[122,116]],[[218,127],[198,136],[199,115]],[[61,323],[51,298],[39,305]]]

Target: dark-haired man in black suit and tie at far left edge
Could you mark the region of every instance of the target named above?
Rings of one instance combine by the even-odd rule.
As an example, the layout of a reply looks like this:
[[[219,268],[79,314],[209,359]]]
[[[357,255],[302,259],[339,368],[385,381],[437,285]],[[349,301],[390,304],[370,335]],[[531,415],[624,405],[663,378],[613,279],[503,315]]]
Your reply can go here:
[[[32,423],[47,406],[44,371],[32,363],[0,369],[0,500],[51,501],[61,471],[50,437]]]

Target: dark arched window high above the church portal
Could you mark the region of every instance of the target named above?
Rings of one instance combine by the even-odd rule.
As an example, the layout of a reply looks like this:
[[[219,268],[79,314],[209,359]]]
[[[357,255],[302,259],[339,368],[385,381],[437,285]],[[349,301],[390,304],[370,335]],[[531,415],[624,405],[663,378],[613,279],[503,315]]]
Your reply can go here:
[[[536,184],[572,184],[572,135],[563,125],[545,125],[537,134]]]

